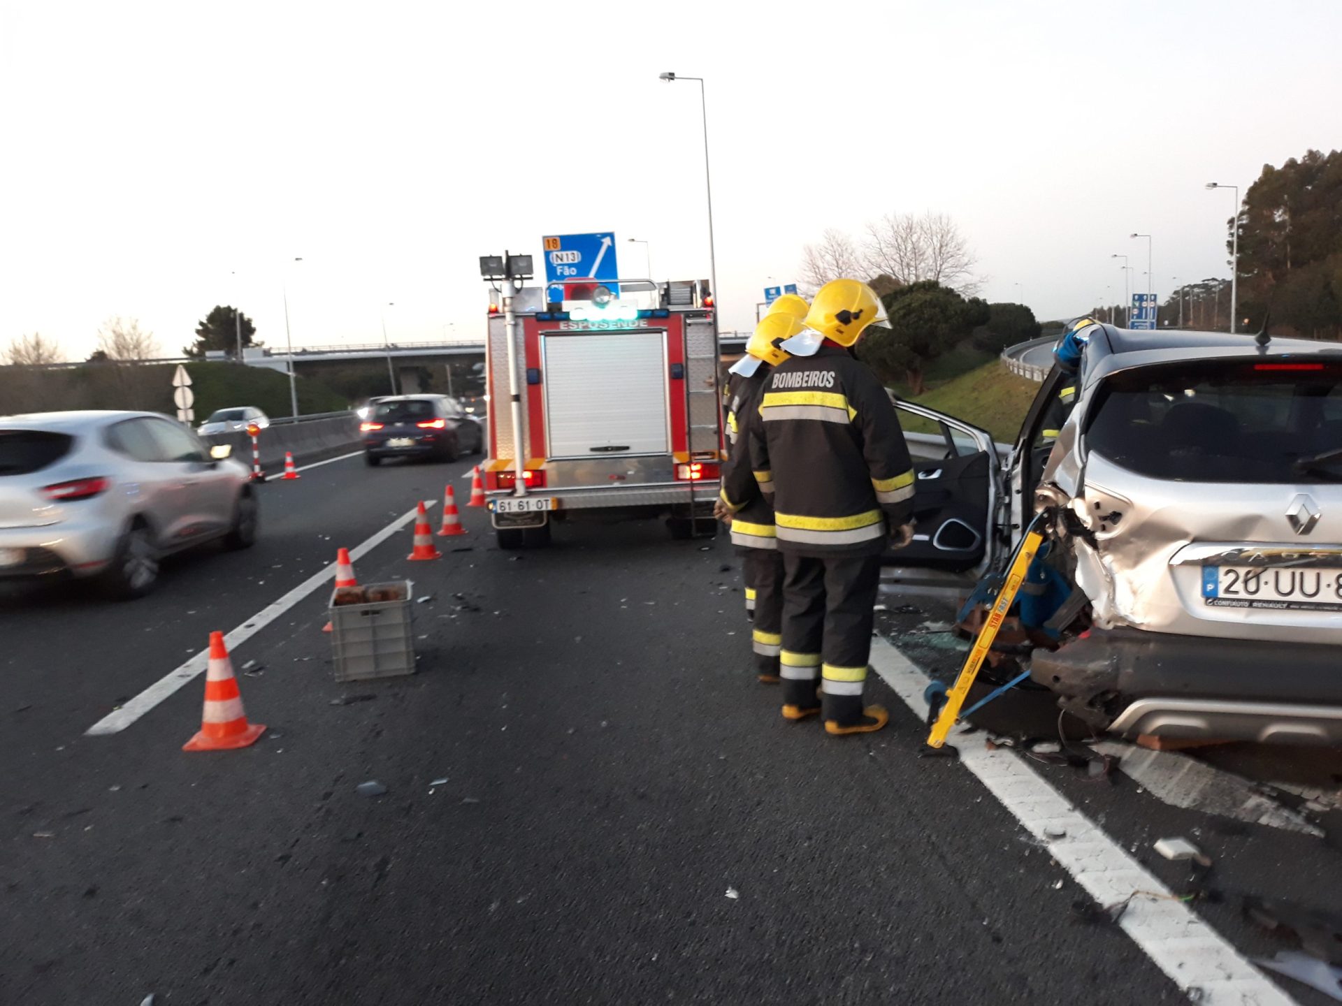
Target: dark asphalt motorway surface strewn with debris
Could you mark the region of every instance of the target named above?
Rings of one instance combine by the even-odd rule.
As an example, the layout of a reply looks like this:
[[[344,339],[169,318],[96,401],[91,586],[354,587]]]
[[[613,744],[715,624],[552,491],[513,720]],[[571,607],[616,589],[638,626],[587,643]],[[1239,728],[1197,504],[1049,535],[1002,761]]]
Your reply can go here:
[[[180,750],[200,679],[85,735],[337,546],[446,479],[464,496],[467,469],[336,461],[263,488],[254,550],[181,557],[150,598],[0,598],[0,1002],[1188,1001],[1122,930],[1080,920],[1086,893],[964,766],[917,757],[883,683],[882,734],[785,723],[721,538],[580,524],[505,553],[466,510],[443,559],[407,562],[407,528],[357,563],[429,598],[417,675],[336,684],[317,590],[234,652],[255,661],[256,746]],[[902,604],[882,632],[950,673],[946,610]],[[1240,892],[1337,901],[1317,837],[1121,773],[1039,771],[1172,887],[1182,865],[1150,841],[1202,842],[1225,893],[1190,909],[1245,955],[1290,944],[1240,917]],[[357,795],[369,779],[388,793]]]

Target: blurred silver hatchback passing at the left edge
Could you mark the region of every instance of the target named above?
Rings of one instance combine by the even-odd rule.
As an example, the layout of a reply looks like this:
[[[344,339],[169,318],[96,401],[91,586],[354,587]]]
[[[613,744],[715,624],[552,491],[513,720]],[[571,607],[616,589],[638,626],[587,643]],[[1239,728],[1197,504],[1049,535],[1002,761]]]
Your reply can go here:
[[[146,412],[0,417],[0,581],[97,578],[141,597],[158,559],[256,539],[246,465]]]

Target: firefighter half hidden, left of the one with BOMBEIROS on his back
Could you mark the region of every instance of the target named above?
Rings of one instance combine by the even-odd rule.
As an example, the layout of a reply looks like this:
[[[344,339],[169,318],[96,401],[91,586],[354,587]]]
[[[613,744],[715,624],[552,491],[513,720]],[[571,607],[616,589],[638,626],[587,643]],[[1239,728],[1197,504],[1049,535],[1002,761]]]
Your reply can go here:
[[[754,620],[750,647],[754,651],[757,676],[766,684],[780,680],[782,557],[774,535],[773,507],[760,492],[750,467],[750,431],[760,423],[760,397],[770,368],[788,358],[778,343],[797,335],[801,329],[801,321],[786,307],[770,311],[756,326],[746,343],[746,355],[731,368],[733,377],[738,381],[733,401],[739,427],[737,441],[722,469],[722,491],[713,511],[731,527],[731,543],[741,553],[746,610]]]

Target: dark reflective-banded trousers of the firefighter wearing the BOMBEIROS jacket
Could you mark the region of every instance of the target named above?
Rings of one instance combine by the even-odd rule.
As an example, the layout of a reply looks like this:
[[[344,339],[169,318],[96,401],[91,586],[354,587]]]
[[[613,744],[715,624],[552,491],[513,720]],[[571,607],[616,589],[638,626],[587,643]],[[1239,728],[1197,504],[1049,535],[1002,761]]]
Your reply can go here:
[[[880,557],[784,553],[782,565],[782,702],[815,708],[816,685],[823,680],[823,718],[856,723],[871,657]]]

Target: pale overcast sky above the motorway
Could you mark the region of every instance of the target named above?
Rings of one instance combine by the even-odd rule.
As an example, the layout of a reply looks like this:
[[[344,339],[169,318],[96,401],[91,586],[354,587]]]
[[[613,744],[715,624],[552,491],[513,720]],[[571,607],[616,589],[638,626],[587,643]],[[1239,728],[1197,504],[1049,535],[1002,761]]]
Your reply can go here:
[[[615,231],[747,329],[825,227],[951,215],[993,300],[1228,275],[1229,192],[1342,145],[1342,4],[0,0],[0,342],[176,351],[216,303],[295,345],[467,338],[476,256]],[[302,263],[293,263],[302,256]],[[235,275],[236,274],[236,275]],[[1020,284],[1020,286],[1016,286]]]

